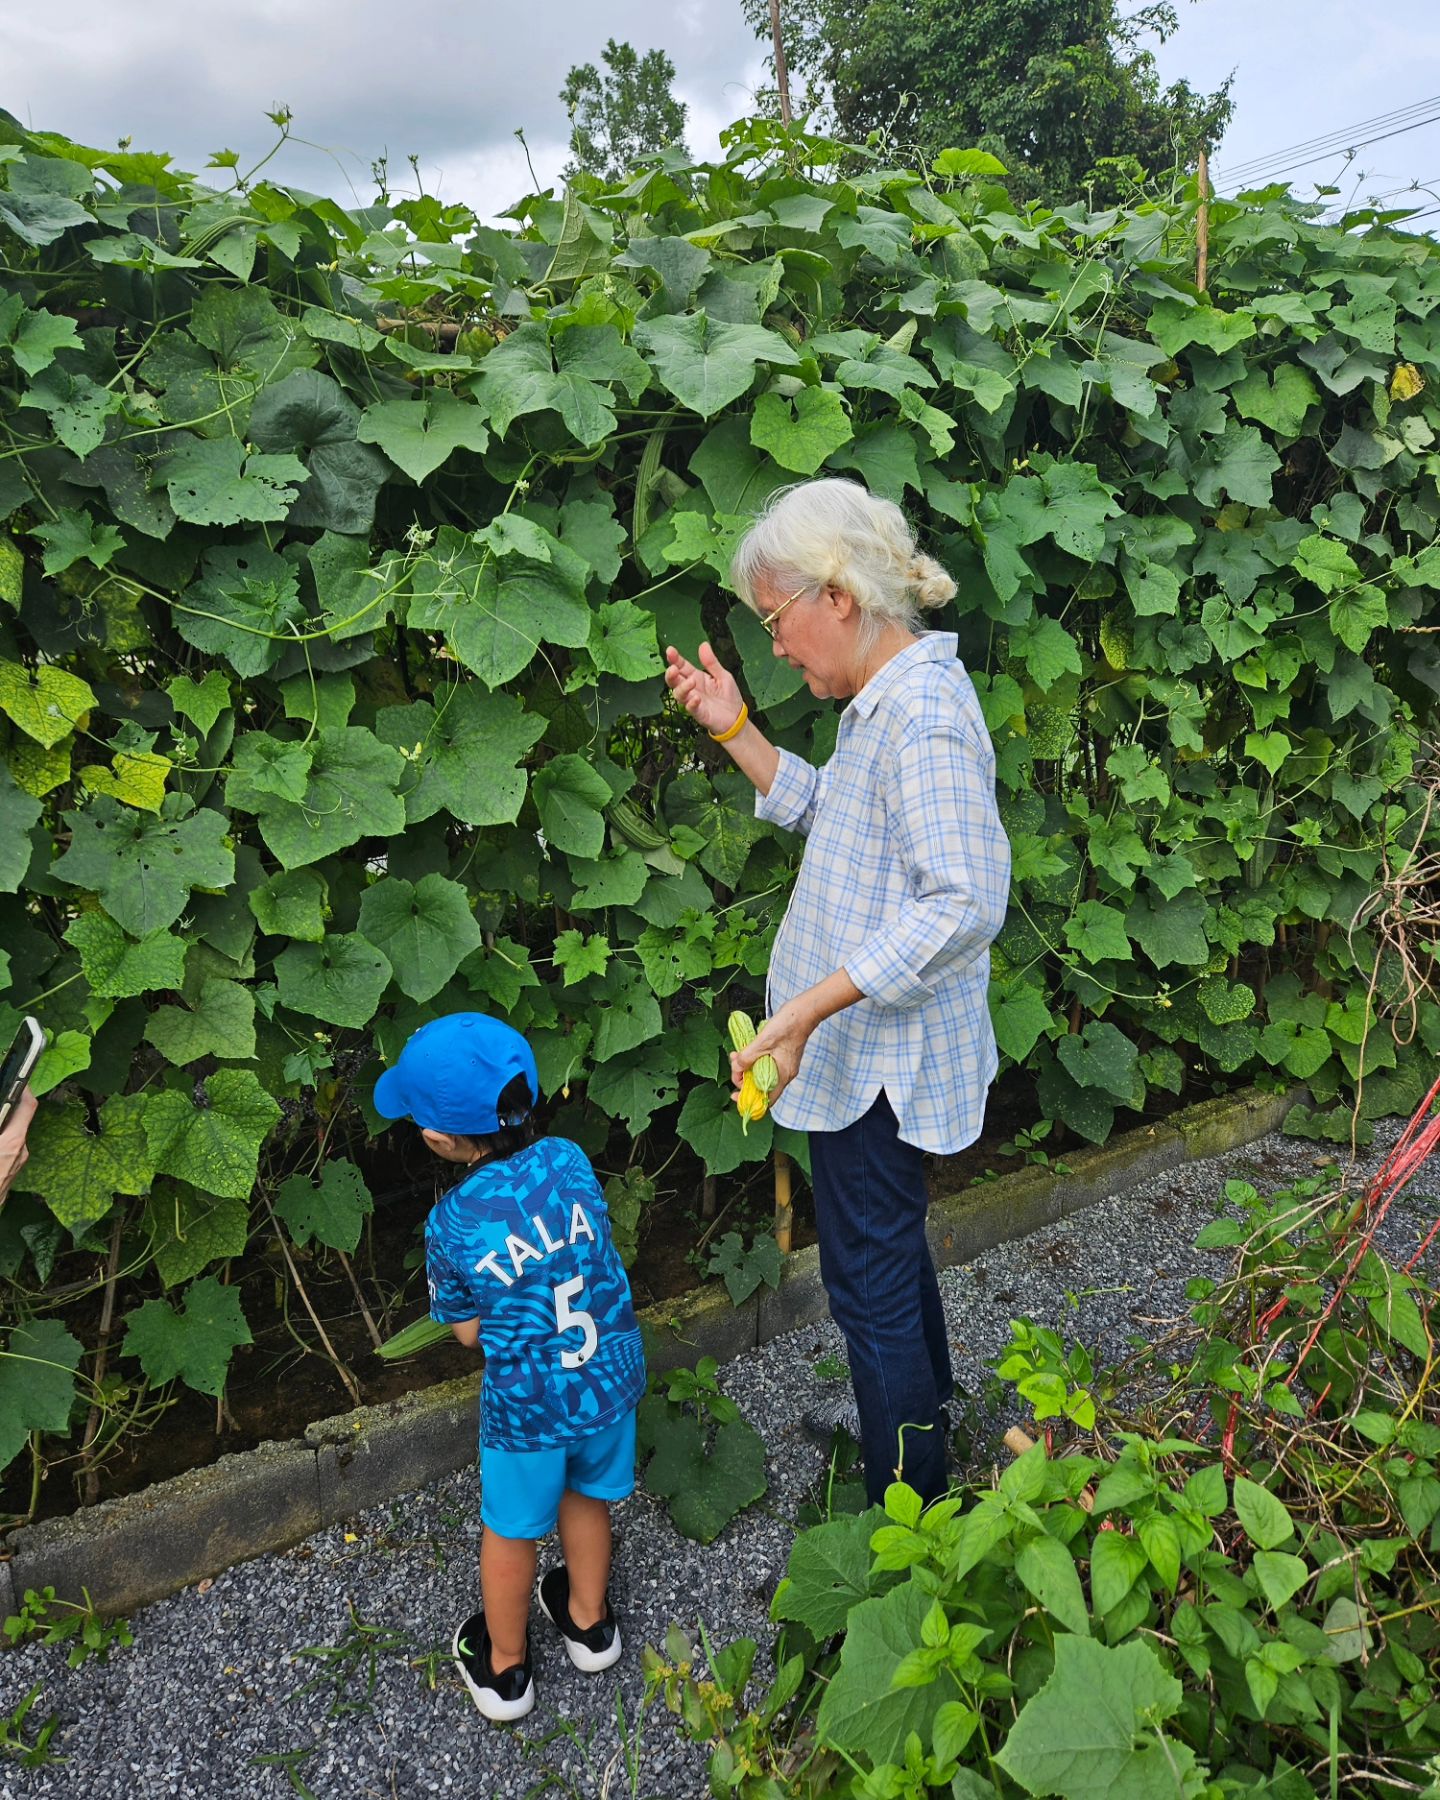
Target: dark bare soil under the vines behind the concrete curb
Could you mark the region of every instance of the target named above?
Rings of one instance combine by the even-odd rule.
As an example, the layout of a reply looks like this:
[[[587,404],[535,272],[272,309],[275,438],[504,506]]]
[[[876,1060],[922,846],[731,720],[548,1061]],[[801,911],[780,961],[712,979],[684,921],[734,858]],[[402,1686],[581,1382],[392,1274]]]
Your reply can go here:
[[[1145,1118],[1159,1118],[1163,1111],[1174,1111],[1181,1103],[1179,1098],[1168,1100],[1165,1109],[1156,1107]],[[1015,1152],[1013,1138],[1019,1129],[1033,1123],[1033,1082],[1010,1071],[990,1094],[983,1136],[959,1156],[931,1159],[931,1195],[961,1192],[986,1172],[1006,1174],[1024,1166],[1026,1157]],[[1141,1123],[1138,1114],[1120,1112],[1116,1132],[1136,1123]],[[614,1156],[594,1154],[599,1170],[619,1168],[630,1156],[628,1143],[614,1143],[607,1147],[610,1148]],[[1064,1129],[1057,1127],[1040,1148],[1051,1157],[1060,1156],[1066,1148]],[[662,1147],[653,1147],[646,1163],[657,1161],[655,1150]],[[661,1156],[659,1161],[662,1159]],[[360,1163],[376,1204],[353,1267],[383,1339],[425,1312],[425,1217],[452,1177],[418,1138],[401,1139],[400,1134],[380,1139]],[[704,1247],[734,1229],[749,1238],[769,1222],[772,1208],[772,1165],[767,1161],[716,1177],[713,1211],[706,1213],[704,1168],[680,1147],[666,1163],[655,1201],[643,1219],[639,1255],[630,1269],[635,1307],[697,1287],[704,1280]],[[810,1188],[803,1172],[796,1170],[792,1246],[801,1249],[814,1242]],[[369,1327],[356,1309],[355,1289],[340,1258],[320,1247],[301,1251],[292,1246],[292,1255],[310,1303],[335,1354],[355,1375],[364,1404],[392,1400],[475,1370],[475,1352],[457,1343],[434,1345],[401,1363],[382,1361],[374,1354]],[[313,1420],[349,1409],[349,1391],[326,1355],[304,1301],[293,1291],[279,1244],[274,1238],[268,1246],[263,1238],[257,1240],[245,1267],[230,1265],[229,1276],[241,1287],[254,1343],[236,1350],[223,1406],[176,1384],[169,1402],[149,1417],[148,1429],[131,1426],[108,1453],[94,1499],[135,1492],[232,1451],[254,1449],[265,1440],[297,1438]],[[142,1298],[148,1296],[140,1291],[126,1292],[122,1285],[117,1292],[117,1318]],[[94,1345],[99,1296],[92,1298],[88,1310],[67,1312],[65,1323],[83,1343]],[[131,1395],[130,1400],[133,1399]],[[74,1512],[83,1503],[74,1454],[79,1436],[77,1431],[67,1445],[68,1456],[58,1456],[45,1469],[36,1519]],[[61,1449],[58,1440],[47,1440],[45,1449],[50,1451],[52,1445]],[[0,1483],[0,1528],[27,1514],[31,1480],[31,1458],[18,1456]]]

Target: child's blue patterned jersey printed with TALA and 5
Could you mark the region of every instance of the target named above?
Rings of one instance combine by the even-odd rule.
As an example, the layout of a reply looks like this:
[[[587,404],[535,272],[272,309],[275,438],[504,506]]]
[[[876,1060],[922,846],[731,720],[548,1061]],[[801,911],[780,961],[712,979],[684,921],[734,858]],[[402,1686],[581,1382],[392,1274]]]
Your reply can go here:
[[[425,1226],[430,1312],[479,1318],[481,1436],[544,1451],[614,1424],[644,1393],[644,1354],[610,1213],[585,1152],[542,1138],[484,1163]]]

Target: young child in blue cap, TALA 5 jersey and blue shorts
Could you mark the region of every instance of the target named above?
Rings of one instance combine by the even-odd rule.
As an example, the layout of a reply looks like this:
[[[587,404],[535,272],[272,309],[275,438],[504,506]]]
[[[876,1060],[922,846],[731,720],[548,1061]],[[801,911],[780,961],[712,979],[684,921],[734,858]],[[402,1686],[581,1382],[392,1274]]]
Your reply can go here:
[[[425,1226],[430,1312],[484,1350],[481,1602],[454,1656],[486,1719],[535,1706],[535,1541],[560,1525],[563,1562],[540,1609],[576,1669],[619,1656],[610,1503],[635,1487],[644,1354],[610,1215],[585,1152],[538,1134],[529,1044],[486,1013],[421,1026],[374,1085],[382,1118],[412,1118],[466,1170]]]

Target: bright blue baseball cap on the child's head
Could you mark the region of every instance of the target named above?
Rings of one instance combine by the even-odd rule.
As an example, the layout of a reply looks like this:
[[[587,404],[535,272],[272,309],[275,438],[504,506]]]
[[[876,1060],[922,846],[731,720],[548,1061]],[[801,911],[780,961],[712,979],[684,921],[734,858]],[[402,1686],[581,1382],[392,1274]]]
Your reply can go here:
[[[374,1084],[374,1111],[387,1120],[412,1118],[423,1130],[486,1138],[529,1112],[526,1105],[502,1120],[495,1111],[517,1075],[529,1082],[533,1105],[540,1075],[520,1033],[488,1013],[446,1013],[423,1024]]]

